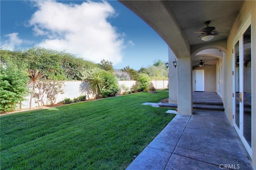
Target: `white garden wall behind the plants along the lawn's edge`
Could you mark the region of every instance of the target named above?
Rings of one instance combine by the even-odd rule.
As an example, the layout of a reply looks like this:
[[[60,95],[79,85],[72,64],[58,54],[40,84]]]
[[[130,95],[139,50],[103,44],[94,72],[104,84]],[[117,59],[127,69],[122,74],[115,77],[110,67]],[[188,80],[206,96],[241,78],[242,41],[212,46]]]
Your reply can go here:
[[[56,103],[64,100],[64,98],[77,98],[81,95],[86,95],[86,99],[95,98],[95,91],[90,89],[88,81],[63,81],[64,82],[64,94],[58,94]],[[132,90],[132,86],[136,83],[134,80],[129,81],[118,81],[119,86],[124,84],[129,90]],[[152,80],[151,85],[156,89],[168,88],[168,80]],[[128,90],[128,91],[129,91]],[[120,92],[122,93],[122,91]],[[26,101],[22,102],[22,108],[29,108],[30,96],[26,98]],[[38,104],[35,103],[32,98],[32,107],[36,107]]]

